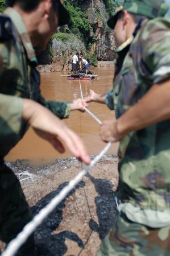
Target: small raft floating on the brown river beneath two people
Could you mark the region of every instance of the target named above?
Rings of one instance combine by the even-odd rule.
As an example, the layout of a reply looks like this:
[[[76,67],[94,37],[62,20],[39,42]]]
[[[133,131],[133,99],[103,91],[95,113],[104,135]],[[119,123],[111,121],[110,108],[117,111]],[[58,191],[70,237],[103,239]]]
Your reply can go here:
[[[96,73],[88,71],[88,75],[85,75],[85,73],[79,71],[76,73],[71,73],[68,75],[60,75],[67,77],[68,80],[94,80],[97,78]]]

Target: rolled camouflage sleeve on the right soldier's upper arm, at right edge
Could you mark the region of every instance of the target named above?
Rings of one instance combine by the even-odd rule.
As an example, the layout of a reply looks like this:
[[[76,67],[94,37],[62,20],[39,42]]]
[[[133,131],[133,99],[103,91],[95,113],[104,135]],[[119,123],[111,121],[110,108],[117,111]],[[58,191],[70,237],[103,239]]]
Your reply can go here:
[[[170,77],[170,21],[157,18],[148,22],[142,33],[143,64],[151,73],[153,84]]]

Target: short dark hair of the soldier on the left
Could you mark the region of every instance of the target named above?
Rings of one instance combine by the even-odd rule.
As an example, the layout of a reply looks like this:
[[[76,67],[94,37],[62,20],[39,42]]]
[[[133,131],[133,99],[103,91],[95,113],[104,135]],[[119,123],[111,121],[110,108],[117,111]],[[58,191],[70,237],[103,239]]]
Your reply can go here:
[[[15,3],[18,3],[23,11],[29,12],[35,10],[41,1],[42,0],[6,0],[6,7],[13,7]],[[56,2],[58,2],[58,0],[53,0],[54,4]]]

